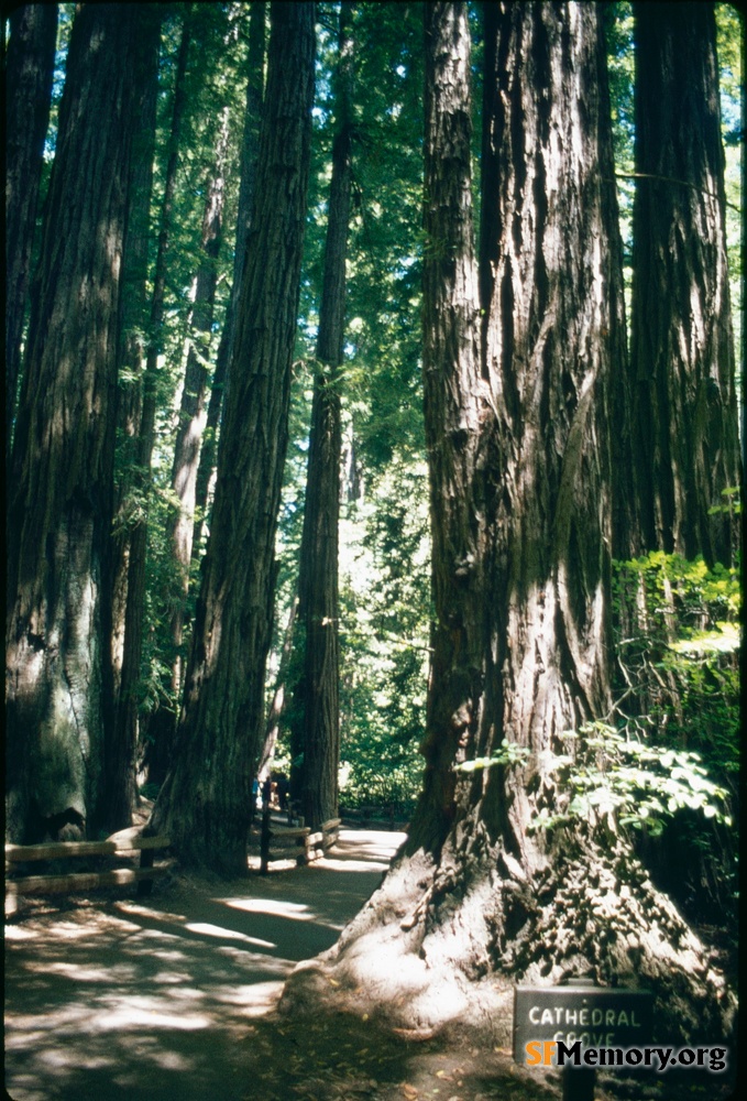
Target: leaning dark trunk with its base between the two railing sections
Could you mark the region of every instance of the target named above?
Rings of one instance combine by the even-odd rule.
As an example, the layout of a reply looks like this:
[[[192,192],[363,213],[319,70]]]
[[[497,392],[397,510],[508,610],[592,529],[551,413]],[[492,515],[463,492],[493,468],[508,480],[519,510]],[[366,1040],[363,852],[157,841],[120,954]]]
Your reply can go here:
[[[185,864],[246,871],[309,174],[314,4],[271,9],[255,218],[174,763],[153,822]]]

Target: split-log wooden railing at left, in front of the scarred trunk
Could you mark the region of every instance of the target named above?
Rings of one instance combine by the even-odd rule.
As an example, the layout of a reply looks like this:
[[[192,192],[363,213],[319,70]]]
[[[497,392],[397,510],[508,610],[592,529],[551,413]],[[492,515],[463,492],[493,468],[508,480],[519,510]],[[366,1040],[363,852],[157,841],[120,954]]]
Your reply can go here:
[[[157,849],[171,844],[167,837],[143,837],[140,827],[112,833],[106,841],[50,841],[43,844],[6,846],[6,914],[18,908],[21,895],[58,894],[90,891],[96,887],[138,883],[138,894],[149,894],[152,881],[166,869],[155,866]],[[12,877],[18,864],[35,860],[68,860],[74,857],[134,858],[140,853],[139,868],[113,868],[108,871],[68,872],[65,874],[21,875]]]

